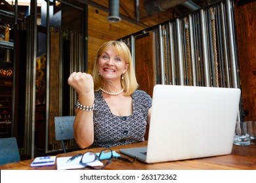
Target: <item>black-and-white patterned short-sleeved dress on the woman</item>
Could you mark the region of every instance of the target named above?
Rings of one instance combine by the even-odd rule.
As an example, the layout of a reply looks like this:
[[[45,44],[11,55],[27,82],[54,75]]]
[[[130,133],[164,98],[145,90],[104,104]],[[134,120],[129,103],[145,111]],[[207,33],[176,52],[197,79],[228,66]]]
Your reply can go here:
[[[144,141],[148,109],[152,98],[142,90],[133,95],[133,114],[116,116],[112,114],[100,91],[95,92],[94,131],[95,141],[89,148],[119,146]]]

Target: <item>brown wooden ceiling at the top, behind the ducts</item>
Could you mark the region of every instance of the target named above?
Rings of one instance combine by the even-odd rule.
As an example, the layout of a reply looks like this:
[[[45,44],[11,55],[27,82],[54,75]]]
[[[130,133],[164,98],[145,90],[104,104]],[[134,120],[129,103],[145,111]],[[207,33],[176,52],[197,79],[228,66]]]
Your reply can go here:
[[[119,14],[121,18],[134,22],[135,24],[143,24],[146,25],[146,27],[152,27],[166,22],[167,20],[171,20],[172,18],[176,18],[177,16],[181,16],[182,14],[188,14],[188,12],[192,12],[195,7],[206,7],[217,1],[218,0],[121,0],[119,1]],[[109,10],[109,1],[107,0],[66,0],[66,2],[79,7],[83,7],[83,5],[87,4],[105,10],[106,12]]]

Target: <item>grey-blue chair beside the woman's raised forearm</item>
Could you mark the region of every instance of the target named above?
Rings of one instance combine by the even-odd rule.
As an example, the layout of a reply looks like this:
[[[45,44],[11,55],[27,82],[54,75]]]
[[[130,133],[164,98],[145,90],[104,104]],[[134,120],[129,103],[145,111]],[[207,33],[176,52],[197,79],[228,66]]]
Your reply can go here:
[[[65,140],[74,139],[74,120],[75,116],[55,116],[55,139],[62,142],[62,148],[66,153]]]

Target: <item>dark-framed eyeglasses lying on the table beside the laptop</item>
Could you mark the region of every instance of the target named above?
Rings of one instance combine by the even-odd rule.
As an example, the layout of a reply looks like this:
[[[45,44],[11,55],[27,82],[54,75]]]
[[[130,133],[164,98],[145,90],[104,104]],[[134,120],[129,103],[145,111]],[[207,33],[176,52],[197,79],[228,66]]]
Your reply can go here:
[[[91,152],[91,151],[85,152],[85,154],[83,154],[83,156],[81,158],[80,164],[85,167],[95,169],[94,167],[91,167],[87,164],[92,163],[93,161],[96,161],[97,159],[98,160],[108,160],[107,163],[105,163],[101,169],[104,169],[106,167],[106,165],[110,164],[112,159],[120,159],[120,160],[128,162],[128,163],[134,163],[136,161],[136,157],[133,159],[133,161],[131,161],[127,158],[113,156],[113,152],[111,149],[104,149],[100,152],[100,154],[98,156],[95,154],[95,152]]]

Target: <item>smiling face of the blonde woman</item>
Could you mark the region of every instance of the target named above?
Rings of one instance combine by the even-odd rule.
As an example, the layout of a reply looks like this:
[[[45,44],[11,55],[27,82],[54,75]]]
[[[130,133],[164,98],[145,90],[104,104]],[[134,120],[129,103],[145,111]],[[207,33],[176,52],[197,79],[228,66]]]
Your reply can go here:
[[[98,72],[103,80],[121,80],[129,67],[123,56],[119,56],[113,46],[106,49],[98,58]]]

